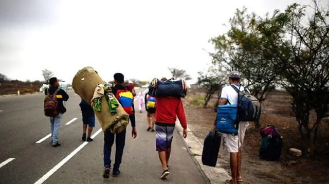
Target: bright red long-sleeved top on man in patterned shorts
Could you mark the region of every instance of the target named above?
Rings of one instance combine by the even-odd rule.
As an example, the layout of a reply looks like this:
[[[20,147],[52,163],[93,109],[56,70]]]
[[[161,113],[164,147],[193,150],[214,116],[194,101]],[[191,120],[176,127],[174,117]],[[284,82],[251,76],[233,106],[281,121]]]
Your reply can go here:
[[[178,117],[181,126],[186,129],[187,122],[183,104],[180,98],[155,97],[156,111],[155,121],[159,123],[175,124]]]

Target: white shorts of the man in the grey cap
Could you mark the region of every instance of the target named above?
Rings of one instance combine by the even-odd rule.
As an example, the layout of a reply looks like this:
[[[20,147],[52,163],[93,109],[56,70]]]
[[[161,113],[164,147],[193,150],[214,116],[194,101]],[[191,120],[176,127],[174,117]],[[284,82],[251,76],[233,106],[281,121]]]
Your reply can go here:
[[[230,153],[237,153],[243,147],[243,139],[245,138],[248,121],[240,121],[238,135],[222,134],[223,144],[226,150]]]

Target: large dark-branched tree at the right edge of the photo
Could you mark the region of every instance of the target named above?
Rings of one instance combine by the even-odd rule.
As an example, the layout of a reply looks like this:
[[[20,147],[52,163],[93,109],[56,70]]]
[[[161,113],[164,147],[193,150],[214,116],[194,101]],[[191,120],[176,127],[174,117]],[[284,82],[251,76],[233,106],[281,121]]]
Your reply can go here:
[[[258,30],[264,54],[273,58],[273,70],[282,76],[281,85],[293,97],[301,137],[308,139],[314,151],[321,119],[329,108],[329,11],[320,9],[316,1],[312,14],[307,15],[305,8],[295,3],[284,12],[276,10],[261,21]],[[310,123],[312,109],[317,119]]]

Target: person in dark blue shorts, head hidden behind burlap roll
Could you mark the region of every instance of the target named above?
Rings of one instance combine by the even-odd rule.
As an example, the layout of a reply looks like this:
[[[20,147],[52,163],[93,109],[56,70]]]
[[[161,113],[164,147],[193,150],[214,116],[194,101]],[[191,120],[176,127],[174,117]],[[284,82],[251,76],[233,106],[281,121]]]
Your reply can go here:
[[[93,107],[88,104],[85,100],[81,99],[81,102],[79,104],[81,108],[81,114],[82,114],[82,140],[87,142],[93,141],[90,136],[92,135],[93,128],[95,127],[95,112]],[[86,136],[86,131],[87,131],[87,126],[88,126],[88,137]]]

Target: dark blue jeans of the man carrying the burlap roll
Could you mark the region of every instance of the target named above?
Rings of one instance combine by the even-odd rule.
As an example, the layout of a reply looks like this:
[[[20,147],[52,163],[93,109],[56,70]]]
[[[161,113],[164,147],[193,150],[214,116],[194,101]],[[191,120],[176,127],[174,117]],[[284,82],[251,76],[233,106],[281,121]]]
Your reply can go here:
[[[115,146],[116,146],[116,152],[115,152],[115,163],[113,165],[113,171],[118,171],[121,160],[122,160],[122,154],[123,154],[123,148],[124,148],[124,142],[125,142],[125,131],[124,129],[119,134],[113,134],[109,131],[104,132],[104,167],[105,168],[111,168],[111,151],[112,151],[112,145],[114,143],[114,136],[115,138]]]

